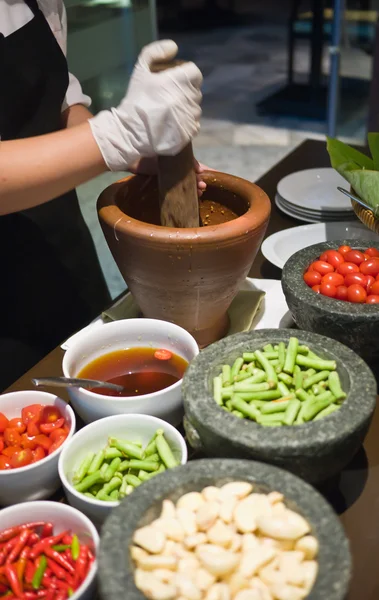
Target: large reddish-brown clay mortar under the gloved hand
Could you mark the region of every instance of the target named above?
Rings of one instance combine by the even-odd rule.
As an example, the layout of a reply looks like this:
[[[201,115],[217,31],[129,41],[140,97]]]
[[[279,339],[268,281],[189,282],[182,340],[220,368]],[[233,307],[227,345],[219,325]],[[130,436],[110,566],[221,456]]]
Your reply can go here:
[[[109,186],[97,203],[109,248],[142,314],[184,327],[201,347],[227,333],[227,310],[253,264],[271,209],[254,183],[218,172],[204,173],[204,181],[204,199],[238,218],[185,229],[153,224],[159,222],[157,180],[141,175]]]

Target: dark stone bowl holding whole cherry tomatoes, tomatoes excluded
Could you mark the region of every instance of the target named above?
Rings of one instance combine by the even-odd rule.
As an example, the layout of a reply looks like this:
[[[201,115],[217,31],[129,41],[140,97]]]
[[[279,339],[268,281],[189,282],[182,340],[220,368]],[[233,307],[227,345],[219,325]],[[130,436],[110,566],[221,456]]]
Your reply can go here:
[[[334,338],[352,348],[373,368],[379,364],[379,304],[353,304],[316,294],[303,281],[311,262],[342,244],[362,250],[367,241],[337,240],[314,244],[293,254],[283,267],[282,288],[296,325]],[[379,238],[378,244],[379,246]]]

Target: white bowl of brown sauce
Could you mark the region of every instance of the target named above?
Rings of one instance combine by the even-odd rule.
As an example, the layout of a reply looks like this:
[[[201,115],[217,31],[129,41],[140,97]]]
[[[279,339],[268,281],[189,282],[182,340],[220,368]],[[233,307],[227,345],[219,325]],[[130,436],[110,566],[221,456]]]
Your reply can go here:
[[[71,404],[85,423],[116,414],[139,413],[178,425],[183,416],[183,375],[199,353],[195,339],[173,323],[124,319],[84,332],[67,350],[66,377],[123,386],[71,388]]]

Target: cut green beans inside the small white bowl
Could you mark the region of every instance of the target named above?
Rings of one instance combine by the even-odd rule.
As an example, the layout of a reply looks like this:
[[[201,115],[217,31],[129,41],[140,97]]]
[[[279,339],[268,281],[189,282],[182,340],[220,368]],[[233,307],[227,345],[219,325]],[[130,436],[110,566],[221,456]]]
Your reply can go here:
[[[146,448],[137,442],[110,437],[105,448],[85,456],[73,485],[92,500],[117,502],[144,481],[178,464],[162,429],[156,431]]]

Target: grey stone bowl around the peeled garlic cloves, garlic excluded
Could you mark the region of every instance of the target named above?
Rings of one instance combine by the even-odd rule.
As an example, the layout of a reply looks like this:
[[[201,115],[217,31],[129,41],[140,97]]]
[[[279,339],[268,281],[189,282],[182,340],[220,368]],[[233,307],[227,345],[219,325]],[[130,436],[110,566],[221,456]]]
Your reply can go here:
[[[134,531],[158,517],[162,500],[174,502],[190,491],[232,480],[255,483],[255,490],[282,492],[289,508],[310,523],[319,541],[319,573],[307,600],[343,600],[350,575],[349,542],[342,525],[325,499],[310,485],[271,465],[246,460],[194,460],[154,477],[138,487],[105,522],[100,543],[99,582],[103,600],[144,600],[134,585],[129,554]]]

